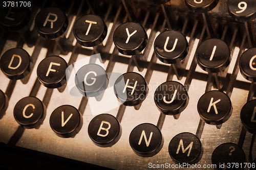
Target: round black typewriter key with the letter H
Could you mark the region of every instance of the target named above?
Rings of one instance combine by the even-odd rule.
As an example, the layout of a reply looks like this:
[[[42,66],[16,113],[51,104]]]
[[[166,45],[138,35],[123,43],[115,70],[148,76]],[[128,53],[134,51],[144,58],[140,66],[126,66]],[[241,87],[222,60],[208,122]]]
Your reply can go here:
[[[114,92],[123,105],[136,106],[146,99],[148,87],[140,74],[126,72],[116,80]]]

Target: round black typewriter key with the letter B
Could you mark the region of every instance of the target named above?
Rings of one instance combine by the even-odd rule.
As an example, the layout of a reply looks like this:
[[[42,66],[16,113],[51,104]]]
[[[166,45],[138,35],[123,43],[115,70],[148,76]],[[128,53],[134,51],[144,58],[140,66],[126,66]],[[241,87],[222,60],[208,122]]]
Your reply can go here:
[[[91,120],[88,134],[99,147],[111,147],[120,139],[122,128],[116,117],[99,114]]]

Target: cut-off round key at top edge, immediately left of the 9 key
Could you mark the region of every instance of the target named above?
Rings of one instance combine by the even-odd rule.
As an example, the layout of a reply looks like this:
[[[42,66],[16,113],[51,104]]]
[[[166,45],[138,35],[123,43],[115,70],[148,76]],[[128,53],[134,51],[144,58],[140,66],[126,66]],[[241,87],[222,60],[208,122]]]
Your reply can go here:
[[[214,9],[219,0],[185,0],[187,8],[193,12],[206,13]]]

